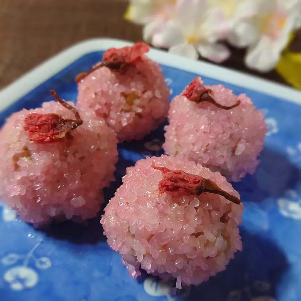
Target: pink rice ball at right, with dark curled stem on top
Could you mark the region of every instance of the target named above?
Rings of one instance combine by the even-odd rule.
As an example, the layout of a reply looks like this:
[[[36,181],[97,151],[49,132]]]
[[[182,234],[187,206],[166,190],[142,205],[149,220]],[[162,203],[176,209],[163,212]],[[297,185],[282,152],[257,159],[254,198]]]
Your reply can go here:
[[[259,164],[257,156],[267,133],[264,116],[245,94],[236,96],[222,85],[202,83],[200,77],[194,79],[172,99],[163,148],[168,155],[195,161],[220,172],[228,181],[239,182]],[[240,104],[226,110],[208,101],[191,101],[183,94],[192,87],[196,94],[209,89],[220,105]]]

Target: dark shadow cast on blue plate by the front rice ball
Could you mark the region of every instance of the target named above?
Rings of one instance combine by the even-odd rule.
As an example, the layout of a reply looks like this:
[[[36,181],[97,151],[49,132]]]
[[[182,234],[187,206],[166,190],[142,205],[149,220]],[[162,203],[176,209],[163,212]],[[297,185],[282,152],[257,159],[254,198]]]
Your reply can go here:
[[[276,288],[288,269],[283,254],[272,241],[240,228],[243,251],[237,252],[227,269],[208,282],[192,287],[189,301],[252,301],[259,297],[277,300]],[[258,299],[259,300],[259,299]]]

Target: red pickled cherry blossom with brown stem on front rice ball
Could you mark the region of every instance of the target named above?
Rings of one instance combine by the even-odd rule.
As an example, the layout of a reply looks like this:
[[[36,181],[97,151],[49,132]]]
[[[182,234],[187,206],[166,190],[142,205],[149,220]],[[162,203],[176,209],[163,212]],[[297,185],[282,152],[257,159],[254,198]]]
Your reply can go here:
[[[190,193],[200,195],[203,192],[214,193],[223,196],[229,201],[240,204],[240,199],[223,191],[216,183],[204,177],[193,175],[182,170],[170,170],[166,167],[155,166],[152,162],[151,167],[160,170],[163,179],[159,182],[159,193]]]

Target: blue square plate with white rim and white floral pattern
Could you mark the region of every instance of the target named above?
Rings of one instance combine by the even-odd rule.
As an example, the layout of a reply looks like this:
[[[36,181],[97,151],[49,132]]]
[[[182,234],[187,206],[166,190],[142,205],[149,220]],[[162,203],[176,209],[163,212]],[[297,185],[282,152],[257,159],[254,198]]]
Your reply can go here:
[[[14,111],[51,99],[76,100],[74,77],[102,59],[103,50],[129,42],[88,40],[61,52],[0,92],[0,123]],[[102,235],[99,218],[85,224],[53,223],[37,230],[0,208],[1,301],[298,301],[301,300],[301,92],[204,62],[152,49],[161,64],[171,97],[193,77],[209,85],[222,83],[246,93],[265,113],[268,133],[261,163],[234,187],[245,205],[240,226],[243,251],[226,271],[197,287],[171,295],[169,284],[145,273],[133,280]],[[163,125],[144,141],[119,145],[116,182],[127,166],[146,156],[160,156]]]

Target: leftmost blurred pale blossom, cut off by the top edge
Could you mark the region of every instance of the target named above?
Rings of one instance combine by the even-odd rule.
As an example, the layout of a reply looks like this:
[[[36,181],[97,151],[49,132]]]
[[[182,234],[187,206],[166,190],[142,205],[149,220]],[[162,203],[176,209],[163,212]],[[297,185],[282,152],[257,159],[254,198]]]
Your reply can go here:
[[[152,36],[164,28],[166,21],[173,18],[176,2],[176,0],[131,0],[125,18],[133,23],[143,24],[143,40],[150,42]]]

